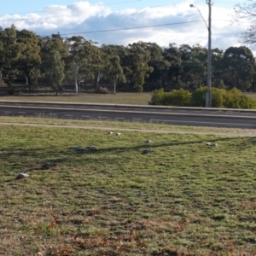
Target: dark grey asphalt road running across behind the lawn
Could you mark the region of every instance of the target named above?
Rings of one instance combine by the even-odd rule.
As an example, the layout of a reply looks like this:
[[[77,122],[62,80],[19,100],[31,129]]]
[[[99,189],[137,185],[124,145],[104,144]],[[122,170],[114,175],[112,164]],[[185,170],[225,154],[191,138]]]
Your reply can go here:
[[[168,108],[79,103],[0,102],[0,115],[49,116],[59,119],[111,119],[168,125],[256,128],[256,111]]]

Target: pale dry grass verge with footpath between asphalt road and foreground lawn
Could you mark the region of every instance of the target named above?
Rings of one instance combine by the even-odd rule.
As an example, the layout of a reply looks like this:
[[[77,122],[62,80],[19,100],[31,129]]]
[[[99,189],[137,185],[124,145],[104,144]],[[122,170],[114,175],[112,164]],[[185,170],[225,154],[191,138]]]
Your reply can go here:
[[[198,134],[216,134],[216,135],[233,135],[233,136],[250,136],[256,137],[255,129],[238,129],[238,128],[215,128],[215,127],[202,127],[202,126],[185,126],[185,125],[164,125],[153,123],[142,123],[137,121],[113,121],[113,120],[98,120],[98,119],[56,119],[39,116],[0,116],[1,123],[22,124],[22,125],[66,125],[67,127],[81,127],[84,129],[106,129],[106,130],[119,130],[119,131],[160,131],[162,133],[198,133]]]

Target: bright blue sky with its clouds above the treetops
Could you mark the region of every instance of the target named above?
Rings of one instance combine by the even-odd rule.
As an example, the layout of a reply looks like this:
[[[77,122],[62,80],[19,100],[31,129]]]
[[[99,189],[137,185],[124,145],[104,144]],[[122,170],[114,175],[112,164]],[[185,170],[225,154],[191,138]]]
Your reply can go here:
[[[64,37],[81,33],[99,44],[131,44],[145,41],[167,46],[201,44],[207,47],[207,27],[193,3],[207,20],[206,0],[10,0],[1,4],[0,25],[15,24],[41,36],[60,32]],[[129,3],[128,3],[129,2]],[[239,0],[215,0],[212,6],[212,48],[240,45],[248,23],[233,23]],[[25,4],[26,3],[26,4]],[[196,21],[198,20],[198,21]],[[196,22],[194,22],[196,21]],[[156,26],[172,24],[169,26]],[[127,27],[152,26],[118,32],[97,32]],[[90,33],[88,33],[90,32]],[[93,33],[91,33],[93,32]]]

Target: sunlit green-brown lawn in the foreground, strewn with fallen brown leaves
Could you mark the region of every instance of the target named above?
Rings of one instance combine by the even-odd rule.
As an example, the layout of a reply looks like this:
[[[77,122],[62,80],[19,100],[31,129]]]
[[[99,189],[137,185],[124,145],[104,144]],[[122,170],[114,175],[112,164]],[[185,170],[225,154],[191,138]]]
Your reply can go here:
[[[255,137],[1,125],[0,254],[251,255],[255,154]]]

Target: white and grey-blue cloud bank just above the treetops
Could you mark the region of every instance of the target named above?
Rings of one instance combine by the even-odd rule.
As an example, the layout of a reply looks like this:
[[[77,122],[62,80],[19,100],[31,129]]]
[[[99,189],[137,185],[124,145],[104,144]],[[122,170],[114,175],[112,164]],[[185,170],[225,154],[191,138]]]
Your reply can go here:
[[[200,15],[197,9],[189,8],[189,3],[112,11],[102,4],[80,1],[69,5],[50,5],[39,14],[4,15],[0,21],[3,27],[15,24],[18,29],[32,30],[42,36],[56,32],[61,32],[61,34],[95,32],[82,35],[100,44],[127,45],[137,41],[146,41],[154,42],[160,46],[176,43],[177,45],[201,44],[207,47],[206,24],[203,21],[191,22],[201,20],[201,15],[207,21],[207,4],[197,6],[201,11]],[[212,6],[212,48],[227,49],[230,46],[238,45],[239,35],[247,27],[247,24],[235,23],[231,25],[231,21],[229,21],[231,17],[231,9]],[[177,24],[189,21],[190,23]],[[160,24],[173,25],[155,26]],[[116,32],[96,32],[137,26],[153,27]]]

